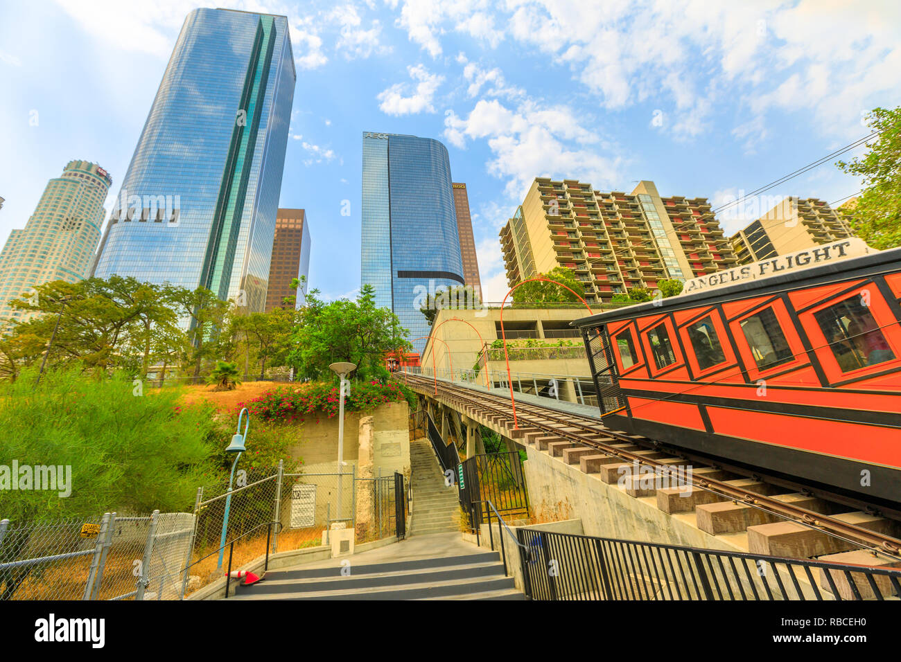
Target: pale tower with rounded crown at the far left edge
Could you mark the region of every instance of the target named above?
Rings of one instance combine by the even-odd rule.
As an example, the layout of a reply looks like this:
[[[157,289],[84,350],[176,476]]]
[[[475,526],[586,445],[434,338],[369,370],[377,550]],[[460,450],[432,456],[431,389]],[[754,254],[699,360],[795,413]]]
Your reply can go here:
[[[69,161],[62,175],[50,179],[24,229],[10,232],[0,251],[0,325],[26,318],[8,302],[29,288],[87,276],[112,183],[104,168],[82,160]]]

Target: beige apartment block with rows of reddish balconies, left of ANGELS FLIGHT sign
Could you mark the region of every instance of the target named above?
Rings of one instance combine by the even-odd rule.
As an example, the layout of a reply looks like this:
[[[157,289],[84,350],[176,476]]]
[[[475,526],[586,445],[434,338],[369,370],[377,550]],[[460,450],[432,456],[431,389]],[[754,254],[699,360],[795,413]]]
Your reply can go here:
[[[589,304],[736,263],[706,198],[661,197],[651,181],[626,194],[538,177],[500,237],[511,286],[565,267],[585,286]]]

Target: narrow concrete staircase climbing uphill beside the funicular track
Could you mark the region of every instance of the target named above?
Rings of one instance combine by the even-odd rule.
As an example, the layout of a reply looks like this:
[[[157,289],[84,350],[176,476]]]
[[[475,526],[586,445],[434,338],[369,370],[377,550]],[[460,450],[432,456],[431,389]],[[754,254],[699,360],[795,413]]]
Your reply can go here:
[[[411,536],[460,531],[460,497],[456,485],[444,485],[441,465],[427,439],[410,441],[413,512]]]

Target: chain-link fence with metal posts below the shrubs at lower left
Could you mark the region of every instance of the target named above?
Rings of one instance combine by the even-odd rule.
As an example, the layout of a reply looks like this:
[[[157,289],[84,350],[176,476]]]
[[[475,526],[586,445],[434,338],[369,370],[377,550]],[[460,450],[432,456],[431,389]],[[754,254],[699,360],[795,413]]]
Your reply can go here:
[[[279,466],[198,488],[193,513],[3,520],[0,600],[174,600],[221,579],[230,554],[232,568],[265,555],[267,540],[269,552],[319,547],[339,521],[358,543],[394,536],[395,480]]]

